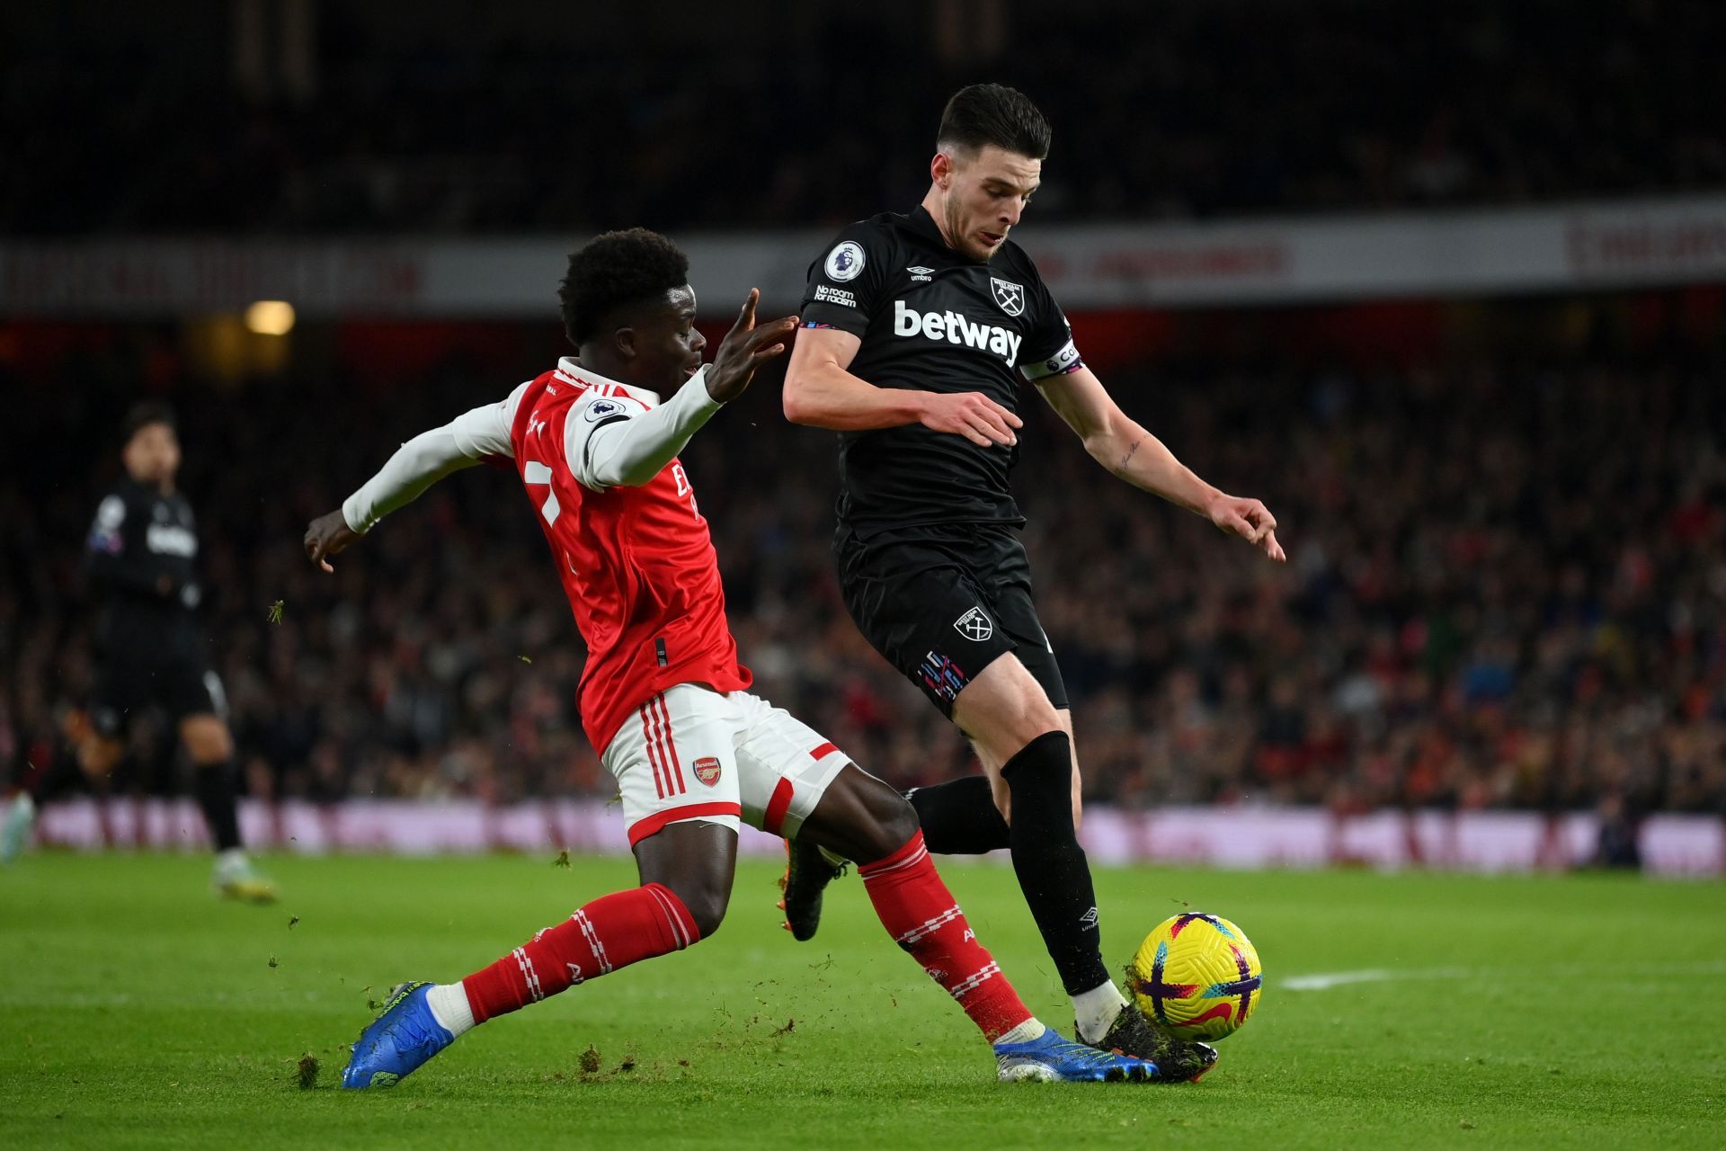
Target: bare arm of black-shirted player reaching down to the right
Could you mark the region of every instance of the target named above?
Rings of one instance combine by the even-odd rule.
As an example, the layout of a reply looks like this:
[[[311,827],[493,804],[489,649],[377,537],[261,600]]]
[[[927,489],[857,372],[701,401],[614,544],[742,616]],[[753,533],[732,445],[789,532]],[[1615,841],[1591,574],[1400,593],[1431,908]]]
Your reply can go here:
[[[1205,483],[1155,435],[1115,404],[1089,368],[1037,383],[1043,399],[1084,442],[1086,452],[1127,483],[1205,516],[1270,559],[1288,556],[1277,544],[1277,519],[1262,502]]]

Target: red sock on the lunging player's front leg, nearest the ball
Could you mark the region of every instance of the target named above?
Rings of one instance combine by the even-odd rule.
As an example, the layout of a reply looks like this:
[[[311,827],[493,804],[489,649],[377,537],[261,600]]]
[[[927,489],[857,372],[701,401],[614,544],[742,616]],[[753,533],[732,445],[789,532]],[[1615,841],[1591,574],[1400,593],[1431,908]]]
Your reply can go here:
[[[958,999],[984,1039],[994,1042],[1030,1018],[935,873],[922,832],[885,859],[861,865],[858,875],[892,940]]]

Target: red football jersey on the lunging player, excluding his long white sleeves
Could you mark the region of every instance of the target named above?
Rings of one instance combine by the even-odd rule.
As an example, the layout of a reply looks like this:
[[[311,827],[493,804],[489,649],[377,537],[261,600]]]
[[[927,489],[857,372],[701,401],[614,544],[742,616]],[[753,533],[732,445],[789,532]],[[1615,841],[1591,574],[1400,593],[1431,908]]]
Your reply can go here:
[[[587,640],[582,726],[604,752],[623,720],[677,683],[749,687],[725,620],[708,521],[673,459],[640,487],[576,480],[587,435],[658,404],[651,392],[582,373],[571,361],[521,392],[509,430],[516,471],[551,544],[575,625]]]

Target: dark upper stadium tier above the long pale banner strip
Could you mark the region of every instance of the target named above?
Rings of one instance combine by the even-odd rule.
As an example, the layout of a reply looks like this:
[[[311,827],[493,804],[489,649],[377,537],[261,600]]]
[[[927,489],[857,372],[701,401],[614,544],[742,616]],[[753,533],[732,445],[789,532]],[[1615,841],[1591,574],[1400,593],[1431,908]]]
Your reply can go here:
[[[652,35],[573,12],[513,33],[499,0],[459,41],[323,3],[297,86],[235,79],[233,7],[193,5],[202,36],[21,24],[0,154],[29,179],[0,181],[0,231],[844,223],[915,202],[942,102],[977,79],[1055,126],[1039,219],[1726,186],[1712,0],[677,5]]]

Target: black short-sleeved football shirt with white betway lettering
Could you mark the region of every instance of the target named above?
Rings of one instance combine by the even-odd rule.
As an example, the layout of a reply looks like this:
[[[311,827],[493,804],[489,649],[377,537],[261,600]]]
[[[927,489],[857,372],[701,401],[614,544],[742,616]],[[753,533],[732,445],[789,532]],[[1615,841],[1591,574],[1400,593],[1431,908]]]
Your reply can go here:
[[[861,338],[849,371],[880,388],[982,392],[1018,412],[1025,380],[1079,364],[1067,318],[1030,257],[982,264],[948,247],[923,207],[851,224],[809,266],[803,323]],[[1018,447],[922,425],[839,433],[839,523],[860,535],[932,523],[1024,525]]]

